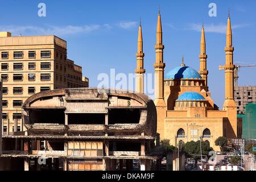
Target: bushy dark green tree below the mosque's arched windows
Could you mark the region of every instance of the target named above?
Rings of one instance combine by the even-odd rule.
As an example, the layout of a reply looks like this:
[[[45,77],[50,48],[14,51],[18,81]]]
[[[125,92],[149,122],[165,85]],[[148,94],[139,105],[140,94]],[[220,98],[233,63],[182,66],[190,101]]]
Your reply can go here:
[[[204,141],[201,141],[201,147],[202,147],[202,155],[209,155],[209,151],[212,151],[212,147],[209,147],[207,143]],[[198,160],[201,158],[201,149],[200,149],[200,140],[197,142],[191,141],[185,143],[185,154],[188,158],[193,158],[195,160]]]

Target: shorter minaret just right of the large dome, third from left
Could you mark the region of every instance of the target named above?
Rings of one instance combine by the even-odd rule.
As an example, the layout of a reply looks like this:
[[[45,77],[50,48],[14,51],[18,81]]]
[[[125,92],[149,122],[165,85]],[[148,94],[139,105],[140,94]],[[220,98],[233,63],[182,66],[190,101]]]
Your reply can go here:
[[[207,54],[205,51],[205,35],[204,35],[204,23],[201,28],[201,44],[200,44],[200,75],[205,80],[205,86],[208,86],[207,82],[207,75],[208,75],[208,70],[207,70]]]

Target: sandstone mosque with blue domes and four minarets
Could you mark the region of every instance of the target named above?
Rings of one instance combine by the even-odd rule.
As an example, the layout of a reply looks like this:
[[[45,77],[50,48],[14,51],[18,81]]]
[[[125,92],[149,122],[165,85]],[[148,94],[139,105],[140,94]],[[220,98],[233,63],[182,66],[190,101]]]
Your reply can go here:
[[[157,110],[157,132],[160,139],[170,139],[170,144],[180,147],[191,140],[204,140],[220,151],[214,144],[218,137],[241,138],[242,118],[237,118],[234,102],[234,64],[232,28],[230,16],[226,30],[225,102],[219,110],[211,98],[208,88],[207,54],[205,51],[204,26],[201,28],[199,64],[200,70],[188,67],[182,61],[179,67],[164,74],[163,38],[160,12],[156,28],[155,106]],[[139,24],[136,73],[136,91],[144,92],[142,27]]]

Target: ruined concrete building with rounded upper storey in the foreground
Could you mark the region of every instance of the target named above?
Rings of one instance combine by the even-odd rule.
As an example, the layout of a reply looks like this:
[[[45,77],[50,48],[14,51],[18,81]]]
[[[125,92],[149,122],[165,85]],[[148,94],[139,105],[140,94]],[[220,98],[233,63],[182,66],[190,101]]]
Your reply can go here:
[[[109,89],[56,89],[23,105],[27,131],[3,136],[0,169],[150,170],[154,102]]]

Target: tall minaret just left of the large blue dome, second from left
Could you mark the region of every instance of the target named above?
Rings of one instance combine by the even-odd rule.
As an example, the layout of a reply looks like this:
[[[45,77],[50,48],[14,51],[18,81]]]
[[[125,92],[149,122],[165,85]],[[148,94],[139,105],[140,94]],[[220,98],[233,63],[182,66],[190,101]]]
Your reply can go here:
[[[158,13],[158,24],[156,28],[156,45],[155,45],[155,105],[166,106],[164,102],[164,67],[163,63],[163,40],[162,40],[162,23],[160,10]]]

